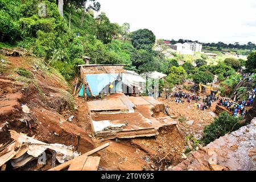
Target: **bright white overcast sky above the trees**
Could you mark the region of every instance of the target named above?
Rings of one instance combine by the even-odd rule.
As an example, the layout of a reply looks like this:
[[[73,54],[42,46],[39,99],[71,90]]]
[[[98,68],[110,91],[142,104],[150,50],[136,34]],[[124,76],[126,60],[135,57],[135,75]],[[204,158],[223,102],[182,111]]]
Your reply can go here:
[[[113,23],[158,39],[256,43],[256,0],[98,0]]]

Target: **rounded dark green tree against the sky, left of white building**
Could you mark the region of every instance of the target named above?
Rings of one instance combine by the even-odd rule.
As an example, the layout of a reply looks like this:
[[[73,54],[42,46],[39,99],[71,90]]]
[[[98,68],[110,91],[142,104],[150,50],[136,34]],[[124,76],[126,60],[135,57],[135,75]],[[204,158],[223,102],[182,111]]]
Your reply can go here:
[[[155,44],[155,35],[148,29],[140,29],[131,34],[131,44],[136,49],[150,51]]]

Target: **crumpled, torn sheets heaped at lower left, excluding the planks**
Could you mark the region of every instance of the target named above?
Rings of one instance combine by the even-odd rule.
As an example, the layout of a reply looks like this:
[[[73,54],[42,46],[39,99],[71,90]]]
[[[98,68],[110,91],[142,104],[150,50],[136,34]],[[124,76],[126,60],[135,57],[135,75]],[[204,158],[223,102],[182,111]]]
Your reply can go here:
[[[59,163],[64,163],[79,156],[77,152],[73,152],[73,147],[64,144],[47,144],[40,142],[24,134],[18,134],[14,130],[10,130],[11,138],[14,139],[9,145],[2,145],[0,152],[0,167],[11,160],[12,166],[15,168],[23,167],[28,162],[38,159],[46,150],[56,151],[56,159]]]

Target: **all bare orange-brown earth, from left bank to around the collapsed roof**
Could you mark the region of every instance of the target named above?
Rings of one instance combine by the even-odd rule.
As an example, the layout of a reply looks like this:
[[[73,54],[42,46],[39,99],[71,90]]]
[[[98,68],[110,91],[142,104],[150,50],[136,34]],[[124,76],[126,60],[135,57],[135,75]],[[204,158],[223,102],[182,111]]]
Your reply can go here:
[[[193,120],[192,125],[179,122],[179,127],[163,127],[156,137],[98,140],[92,137],[87,103],[83,98],[75,97],[75,103],[68,99],[67,92],[72,90],[72,83],[63,82],[63,78],[54,72],[49,74],[42,66],[37,65],[36,68],[34,57],[6,59],[11,62],[10,70],[16,67],[30,70],[36,84],[15,79],[18,77],[15,72],[0,74],[0,144],[10,140],[10,129],[35,136],[42,142],[72,145],[73,150],[81,154],[110,142],[109,147],[94,154],[101,156],[101,170],[164,170],[184,160],[181,154],[185,151],[185,137],[200,133],[213,120],[209,110],[197,110],[193,103],[176,104],[159,98],[170,106],[171,114],[186,117],[187,121]],[[22,105],[27,105],[29,112],[24,113]],[[142,106],[138,110],[147,118],[164,116]],[[214,111],[214,105],[210,111]],[[23,169],[38,168],[29,166]]]

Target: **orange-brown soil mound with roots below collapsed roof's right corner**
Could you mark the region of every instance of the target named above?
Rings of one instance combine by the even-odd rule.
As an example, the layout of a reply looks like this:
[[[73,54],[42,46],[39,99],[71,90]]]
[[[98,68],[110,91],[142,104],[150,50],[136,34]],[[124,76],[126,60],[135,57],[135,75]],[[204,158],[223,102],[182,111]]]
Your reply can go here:
[[[150,164],[150,169],[163,170],[182,160],[184,138],[175,125],[160,128],[155,138],[132,139],[131,144],[146,153],[144,159]]]

